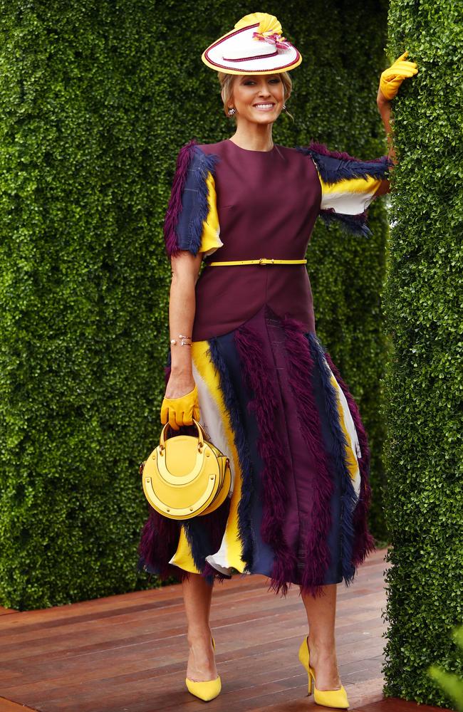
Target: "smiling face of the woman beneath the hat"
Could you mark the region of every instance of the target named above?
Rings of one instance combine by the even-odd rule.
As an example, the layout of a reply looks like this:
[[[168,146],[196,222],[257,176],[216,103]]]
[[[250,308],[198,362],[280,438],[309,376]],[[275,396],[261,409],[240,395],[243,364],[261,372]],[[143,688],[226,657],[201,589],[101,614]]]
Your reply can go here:
[[[236,108],[236,119],[258,124],[273,123],[284,103],[284,85],[279,74],[236,75],[229,106]]]

